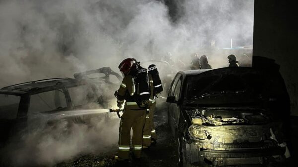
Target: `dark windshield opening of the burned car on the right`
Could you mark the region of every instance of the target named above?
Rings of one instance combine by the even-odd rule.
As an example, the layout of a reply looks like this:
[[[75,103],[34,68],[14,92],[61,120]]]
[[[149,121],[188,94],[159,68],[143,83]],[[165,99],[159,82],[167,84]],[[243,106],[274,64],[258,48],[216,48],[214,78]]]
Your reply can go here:
[[[213,71],[213,72],[212,72]],[[223,90],[217,90],[212,91],[213,88],[216,88],[217,84],[221,84],[221,82],[224,82],[225,84],[229,82],[229,80],[224,81],[228,77],[234,75],[234,81],[239,80],[239,83],[241,82],[241,86],[239,89],[233,88],[231,90],[229,89],[223,89]],[[203,78],[213,77],[214,79],[211,79],[208,84],[205,84],[199,91],[196,92],[196,95],[194,94],[194,91],[190,91],[189,87],[191,84],[194,84],[193,82],[198,82],[199,80],[202,80]],[[197,78],[196,78],[197,77]],[[269,78],[268,78],[269,77]],[[193,79],[191,81],[190,79]],[[251,79],[254,78],[254,79]],[[269,84],[270,76],[266,75],[266,73],[258,72],[255,70],[247,70],[247,71],[241,71],[241,70],[233,70],[233,71],[219,71],[216,72],[215,70],[208,71],[207,73],[201,73],[197,75],[190,75],[185,78],[184,81],[184,98],[183,100],[193,100],[204,96],[210,96],[210,95],[217,95],[217,94],[231,94],[231,93],[245,93],[245,92],[252,92],[255,94],[267,94],[268,91],[266,90],[266,85]],[[189,82],[192,83],[189,83]],[[276,80],[279,82],[278,80]],[[196,85],[197,86],[197,85]],[[226,88],[229,85],[224,85],[223,88]],[[270,93],[270,92],[269,92]]]

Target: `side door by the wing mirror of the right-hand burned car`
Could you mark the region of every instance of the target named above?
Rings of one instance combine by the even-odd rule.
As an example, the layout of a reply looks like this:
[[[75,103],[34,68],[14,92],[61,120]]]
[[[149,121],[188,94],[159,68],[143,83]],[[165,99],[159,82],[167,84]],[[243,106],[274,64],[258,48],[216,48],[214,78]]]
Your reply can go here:
[[[175,80],[173,81],[171,90],[169,92],[169,96],[175,96],[176,101],[179,101],[180,98],[180,90],[182,85],[182,76],[179,74],[176,76]],[[176,129],[178,127],[180,116],[180,107],[176,103],[169,103],[168,104],[168,121],[169,126],[171,127],[172,134],[175,136]]]

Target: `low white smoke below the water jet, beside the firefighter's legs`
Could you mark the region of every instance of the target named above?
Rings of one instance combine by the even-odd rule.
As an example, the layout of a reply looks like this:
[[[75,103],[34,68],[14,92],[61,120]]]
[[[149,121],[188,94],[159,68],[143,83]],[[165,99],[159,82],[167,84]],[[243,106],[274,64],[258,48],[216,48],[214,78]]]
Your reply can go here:
[[[107,153],[117,149],[118,117],[86,119],[76,117],[52,124],[33,124],[21,140],[11,142],[1,151],[4,166],[51,166],[78,154]]]

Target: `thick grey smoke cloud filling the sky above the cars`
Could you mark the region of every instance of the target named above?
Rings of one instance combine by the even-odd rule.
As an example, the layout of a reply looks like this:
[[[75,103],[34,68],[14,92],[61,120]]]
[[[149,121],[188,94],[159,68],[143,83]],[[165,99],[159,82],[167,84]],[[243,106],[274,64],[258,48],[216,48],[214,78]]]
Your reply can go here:
[[[188,65],[205,48],[252,45],[253,0],[180,1],[172,22],[156,0],[0,1],[0,86],[110,66],[121,59],[157,59],[171,52]],[[211,53],[210,53],[211,54]],[[183,57],[183,58],[182,58]],[[210,55],[214,67],[226,55]],[[220,61],[219,61],[220,60]]]

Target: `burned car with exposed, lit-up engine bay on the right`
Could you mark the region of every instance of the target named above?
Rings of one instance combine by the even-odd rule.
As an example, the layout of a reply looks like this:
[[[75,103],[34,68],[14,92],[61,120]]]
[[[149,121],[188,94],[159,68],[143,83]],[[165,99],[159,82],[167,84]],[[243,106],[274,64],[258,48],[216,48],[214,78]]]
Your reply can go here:
[[[167,102],[181,166],[266,166],[290,156],[284,81],[276,66],[255,64],[178,72]]]

